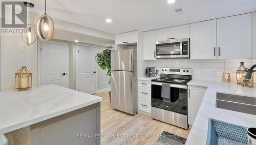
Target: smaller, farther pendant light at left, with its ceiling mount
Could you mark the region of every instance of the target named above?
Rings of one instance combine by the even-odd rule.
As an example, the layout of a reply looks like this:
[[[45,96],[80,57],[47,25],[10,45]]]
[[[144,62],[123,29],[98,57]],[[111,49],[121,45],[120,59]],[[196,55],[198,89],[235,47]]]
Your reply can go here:
[[[34,4],[29,3],[29,2],[24,2],[24,5],[28,7],[29,9],[29,23],[28,26],[26,28],[24,28],[24,32],[26,32],[26,40],[24,40],[23,35],[22,35],[22,40],[27,43],[28,46],[30,46],[31,44],[35,43],[36,41],[36,37],[32,42],[32,32],[34,32],[35,34],[35,30],[30,26],[30,8],[34,8]]]

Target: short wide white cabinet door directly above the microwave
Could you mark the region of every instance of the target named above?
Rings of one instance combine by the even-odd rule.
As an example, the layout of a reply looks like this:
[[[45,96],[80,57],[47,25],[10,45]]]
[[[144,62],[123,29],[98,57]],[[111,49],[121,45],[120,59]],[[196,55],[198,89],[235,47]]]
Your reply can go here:
[[[157,30],[157,41],[189,38],[189,24]]]

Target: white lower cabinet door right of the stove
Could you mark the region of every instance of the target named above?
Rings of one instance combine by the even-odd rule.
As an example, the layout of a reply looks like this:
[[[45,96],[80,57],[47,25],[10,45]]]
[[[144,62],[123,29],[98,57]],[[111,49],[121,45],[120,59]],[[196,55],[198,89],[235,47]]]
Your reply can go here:
[[[196,87],[196,86],[188,86],[188,124],[193,125],[202,100],[204,98],[204,94],[206,92],[206,88]]]

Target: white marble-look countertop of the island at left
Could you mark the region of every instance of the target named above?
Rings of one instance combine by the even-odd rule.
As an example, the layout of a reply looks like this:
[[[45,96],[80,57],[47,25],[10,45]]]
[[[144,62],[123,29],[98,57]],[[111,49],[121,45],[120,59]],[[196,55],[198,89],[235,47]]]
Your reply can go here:
[[[37,86],[0,92],[0,134],[23,128],[102,101],[101,97],[63,88]]]

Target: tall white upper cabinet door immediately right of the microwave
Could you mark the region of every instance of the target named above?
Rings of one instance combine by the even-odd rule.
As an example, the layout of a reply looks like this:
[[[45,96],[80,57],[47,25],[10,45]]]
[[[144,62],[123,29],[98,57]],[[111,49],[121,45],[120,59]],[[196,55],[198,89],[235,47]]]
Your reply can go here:
[[[190,59],[217,59],[217,20],[190,24]]]

